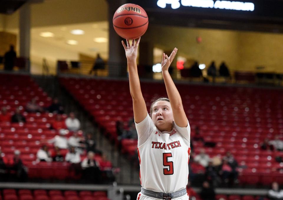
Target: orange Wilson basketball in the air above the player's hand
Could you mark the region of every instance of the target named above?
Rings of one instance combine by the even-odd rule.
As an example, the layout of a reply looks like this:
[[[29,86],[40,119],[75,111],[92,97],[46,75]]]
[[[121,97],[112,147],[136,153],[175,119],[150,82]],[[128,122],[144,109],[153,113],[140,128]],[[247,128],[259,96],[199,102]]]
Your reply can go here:
[[[124,4],[116,10],[113,16],[113,27],[122,38],[139,38],[147,31],[147,13],[139,5]]]

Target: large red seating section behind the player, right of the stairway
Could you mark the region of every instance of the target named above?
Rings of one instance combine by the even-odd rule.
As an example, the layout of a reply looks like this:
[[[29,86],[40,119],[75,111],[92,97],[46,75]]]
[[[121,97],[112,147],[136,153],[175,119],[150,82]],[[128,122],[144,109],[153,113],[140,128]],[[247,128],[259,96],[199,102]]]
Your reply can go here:
[[[117,142],[116,121],[123,121],[126,127],[133,117],[129,82],[60,78],[60,83],[106,130],[109,138]],[[202,147],[210,157],[231,151],[241,166],[239,178],[243,184],[269,185],[272,181],[283,184],[283,163],[275,161],[283,152],[260,149],[265,138],[283,134],[282,90],[186,84],[178,84],[177,88],[192,138],[198,126],[206,142],[216,143],[213,148],[194,142],[195,154]],[[148,110],[153,97],[167,96],[161,83],[144,82],[141,89]],[[135,154],[136,141],[123,140],[121,145],[122,152]]]

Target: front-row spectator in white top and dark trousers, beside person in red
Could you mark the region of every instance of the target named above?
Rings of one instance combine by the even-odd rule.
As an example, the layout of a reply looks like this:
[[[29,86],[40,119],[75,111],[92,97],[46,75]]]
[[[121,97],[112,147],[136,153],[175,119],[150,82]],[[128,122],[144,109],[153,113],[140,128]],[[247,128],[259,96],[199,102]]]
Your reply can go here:
[[[81,166],[83,168],[83,179],[92,183],[101,182],[99,163],[94,159],[93,152],[88,152],[88,156],[83,160]]]

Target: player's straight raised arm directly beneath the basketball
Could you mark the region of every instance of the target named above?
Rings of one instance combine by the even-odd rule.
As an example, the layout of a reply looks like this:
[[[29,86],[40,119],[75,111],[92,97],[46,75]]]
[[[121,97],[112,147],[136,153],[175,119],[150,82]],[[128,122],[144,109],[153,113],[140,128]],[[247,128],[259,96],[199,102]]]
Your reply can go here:
[[[134,120],[136,123],[142,122],[148,114],[147,107],[141,93],[141,85],[139,83],[138,69],[136,65],[136,57],[140,39],[141,38],[136,40],[136,43],[133,40],[132,45],[130,44],[129,40],[126,40],[127,46],[124,41],[122,41],[128,62],[130,93],[133,99]]]

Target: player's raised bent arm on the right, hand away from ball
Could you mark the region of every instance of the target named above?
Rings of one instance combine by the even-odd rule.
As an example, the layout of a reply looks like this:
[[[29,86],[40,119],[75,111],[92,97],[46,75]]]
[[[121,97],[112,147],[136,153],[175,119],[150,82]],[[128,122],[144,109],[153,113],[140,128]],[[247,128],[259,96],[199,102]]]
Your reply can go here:
[[[170,104],[172,107],[174,122],[178,127],[187,127],[188,126],[188,119],[185,114],[183,105],[182,105],[182,99],[181,96],[168,72],[168,69],[170,67],[170,64],[174,60],[176,53],[178,49],[174,48],[171,55],[168,57],[163,53],[162,56],[162,75],[167,91],[168,98],[170,100]]]

